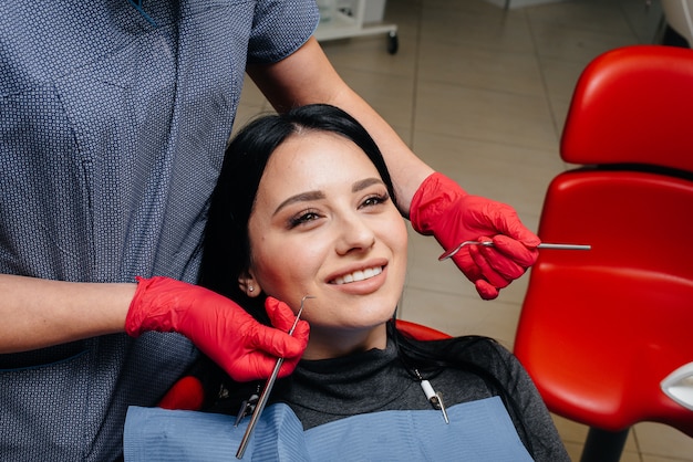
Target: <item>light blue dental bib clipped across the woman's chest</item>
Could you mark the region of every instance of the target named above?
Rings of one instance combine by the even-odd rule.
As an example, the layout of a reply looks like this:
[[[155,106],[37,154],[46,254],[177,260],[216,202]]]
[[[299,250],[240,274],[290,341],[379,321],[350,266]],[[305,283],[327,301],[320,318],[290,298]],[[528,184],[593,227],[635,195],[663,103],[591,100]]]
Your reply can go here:
[[[352,416],[302,432],[286,405],[265,409],[246,461],[531,461],[500,398],[452,406],[449,424],[436,410]],[[131,408],[125,461],[228,461],[248,427],[231,416]]]

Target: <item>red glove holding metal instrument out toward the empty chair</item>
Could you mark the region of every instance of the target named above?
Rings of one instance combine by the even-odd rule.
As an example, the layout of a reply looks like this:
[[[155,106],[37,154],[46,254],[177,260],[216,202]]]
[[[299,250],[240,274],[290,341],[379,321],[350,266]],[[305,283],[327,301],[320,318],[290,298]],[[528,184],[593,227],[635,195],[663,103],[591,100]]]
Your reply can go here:
[[[468,245],[453,256],[484,300],[497,297],[500,288],[521,276],[537,260],[541,242],[511,207],[467,195],[437,172],[416,190],[410,220],[414,230],[433,234],[446,251],[463,241],[493,240],[493,248]]]

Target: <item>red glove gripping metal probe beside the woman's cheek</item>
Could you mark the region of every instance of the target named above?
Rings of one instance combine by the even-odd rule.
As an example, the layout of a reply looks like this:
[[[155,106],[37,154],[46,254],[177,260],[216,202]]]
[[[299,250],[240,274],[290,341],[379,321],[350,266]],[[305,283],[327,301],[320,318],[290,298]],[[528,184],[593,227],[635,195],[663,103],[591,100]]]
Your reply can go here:
[[[137,281],[125,332],[133,337],[146,330],[180,333],[236,381],[269,377],[278,357],[285,358],[279,376],[288,376],[308,345],[308,323],[299,321],[289,336],[296,316],[276,298],[265,302],[272,328],[207,288],[161,276]]]

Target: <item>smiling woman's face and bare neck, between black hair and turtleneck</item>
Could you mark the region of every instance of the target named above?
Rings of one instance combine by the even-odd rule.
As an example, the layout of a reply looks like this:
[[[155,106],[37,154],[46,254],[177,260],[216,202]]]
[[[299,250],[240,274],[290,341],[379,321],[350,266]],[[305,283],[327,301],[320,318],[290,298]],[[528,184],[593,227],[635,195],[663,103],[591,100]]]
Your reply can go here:
[[[311,326],[306,358],[384,348],[406,272],[406,228],[377,170],[324,132],[272,154],[249,221],[252,284]],[[258,291],[255,291],[257,293]]]

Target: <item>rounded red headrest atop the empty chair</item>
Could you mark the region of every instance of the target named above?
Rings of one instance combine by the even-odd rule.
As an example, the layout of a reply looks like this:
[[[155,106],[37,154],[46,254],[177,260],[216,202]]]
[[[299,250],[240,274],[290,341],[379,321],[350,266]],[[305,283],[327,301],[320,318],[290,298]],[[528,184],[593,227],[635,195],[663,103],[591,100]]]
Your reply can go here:
[[[693,171],[693,50],[625,46],[593,60],[566,119],[570,164],[645,164]]]

